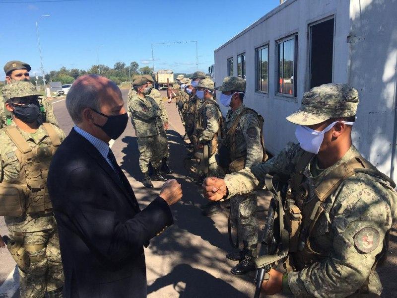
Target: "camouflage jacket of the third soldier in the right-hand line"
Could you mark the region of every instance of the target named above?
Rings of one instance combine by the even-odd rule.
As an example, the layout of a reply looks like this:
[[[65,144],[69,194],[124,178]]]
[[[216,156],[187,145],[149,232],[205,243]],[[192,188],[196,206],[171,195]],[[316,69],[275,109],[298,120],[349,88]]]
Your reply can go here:
[[[214,100],[208,100],[208,103],[204,101],[199,109],[199,126],[203,128],[198,136],[201,143],[210,142],[219,130],[219,121],[222,114],[219,106],[211,103],[211,101]]]

